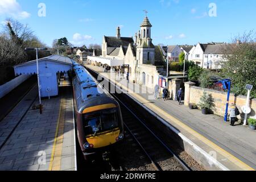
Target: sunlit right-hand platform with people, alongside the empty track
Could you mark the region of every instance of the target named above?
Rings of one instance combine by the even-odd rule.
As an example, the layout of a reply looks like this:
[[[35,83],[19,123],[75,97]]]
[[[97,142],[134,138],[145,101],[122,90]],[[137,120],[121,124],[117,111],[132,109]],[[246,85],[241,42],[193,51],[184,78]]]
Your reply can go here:
[[[255,131],[243,126],[231,127],[217,115],[203,115],[199,110],[189,110],[177,101],[155,100],[151,89],[143,93],[134,90],[146,89],[138,84],[129,83],[125,78],[116,81],[105,73],[103,68],[85,65],[121,86],[127,94],[150,110],[152,114],[168,122],[183,139],[185,151],[209,170],[243,171],[256,169]],[[147,91],[147,92],[146,92]]]

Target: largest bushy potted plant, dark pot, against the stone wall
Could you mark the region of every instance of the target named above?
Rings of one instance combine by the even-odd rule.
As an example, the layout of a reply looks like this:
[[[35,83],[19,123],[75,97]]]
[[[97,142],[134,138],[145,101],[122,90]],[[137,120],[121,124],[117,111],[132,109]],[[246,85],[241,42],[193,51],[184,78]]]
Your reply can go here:
[[[207,92],[204,91],[203,96],[200,97],[198,106],[201,108],[203,114],[208,114],[214,107],[212,94],[207,94]]]

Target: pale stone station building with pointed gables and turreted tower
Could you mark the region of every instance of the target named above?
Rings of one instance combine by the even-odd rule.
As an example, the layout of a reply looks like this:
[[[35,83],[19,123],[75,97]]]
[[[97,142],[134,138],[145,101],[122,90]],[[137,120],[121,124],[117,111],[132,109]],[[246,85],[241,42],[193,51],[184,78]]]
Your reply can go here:
[[[102,40],[102,56],[95,57],[110,61],[122,61],[122,65],[129,65],[130,80],[153,88],[159,78],[166,75],[164,71],[164,56],[159,46],[154,46],[151,38],[151,23],[147,16],[141,23],[138,34],[133,37],[122,37],[120,27],[116,36],[104,36]],[[93,63],[93,56],[89,58]],[[95,62],[95,61],[94,61]],[[104,60],[106,63],[106,60]],[[122,67],[119,65],[119,68]]]

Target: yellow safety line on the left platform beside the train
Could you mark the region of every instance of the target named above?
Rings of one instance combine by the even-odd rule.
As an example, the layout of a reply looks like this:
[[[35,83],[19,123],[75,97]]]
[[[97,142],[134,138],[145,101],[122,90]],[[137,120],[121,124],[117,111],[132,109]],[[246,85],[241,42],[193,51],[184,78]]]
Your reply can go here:
[[[52,148],[51,161],[48,171],[60,171],[61,154],[63,146],[63,133],[64,133],[64,121],[65,121],[65,100],[61,98],[59,118],[57,121],[57,127],[55,131],[55,139]]]

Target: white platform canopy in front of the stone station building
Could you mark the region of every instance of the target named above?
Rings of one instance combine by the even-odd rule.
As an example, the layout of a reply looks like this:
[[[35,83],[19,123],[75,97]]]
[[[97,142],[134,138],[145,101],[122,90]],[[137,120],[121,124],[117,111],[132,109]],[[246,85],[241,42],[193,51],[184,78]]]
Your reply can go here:
[[[111,59],[108,57],[96,57],[96,56],[88,56],[88,60],[94,63],[107,64],[110,67],[119,67],[125,63],[124,60]]]

